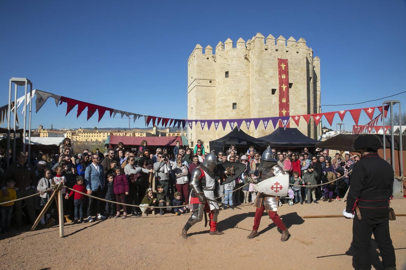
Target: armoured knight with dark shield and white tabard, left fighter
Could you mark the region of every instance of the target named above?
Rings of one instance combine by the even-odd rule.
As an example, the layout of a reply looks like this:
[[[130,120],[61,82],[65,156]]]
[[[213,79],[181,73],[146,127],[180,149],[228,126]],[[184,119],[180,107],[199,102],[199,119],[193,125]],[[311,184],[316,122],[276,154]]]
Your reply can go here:
[[[209,226],[211,235],[221,235],[224,232],[217,230],[217,216],[219,207],[216,202],[205,200],[205,198],[216,200],[214,189],[216,187],[214,170],[217,166],[217,158],[214,153],[206,155],[205,160],[192,171],[190,186],[190,204],[193,204],[193,215],[188,219],[182,229],[182,237],[188,238],[188,230],[194,224],[203,220],[204,211],[209,212]]]

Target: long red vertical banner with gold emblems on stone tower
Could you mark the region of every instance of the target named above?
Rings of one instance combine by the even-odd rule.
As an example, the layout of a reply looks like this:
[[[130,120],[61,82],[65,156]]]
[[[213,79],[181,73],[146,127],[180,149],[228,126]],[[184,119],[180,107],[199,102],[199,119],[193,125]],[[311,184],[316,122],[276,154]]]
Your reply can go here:
[[[278,79],[279,79],[279,116],[287,116],[289,113],[289,69],[287,59],[278,58]],[[280,123],[279,127],[283,125]],[[289,128],[289,123],[286,126]]]

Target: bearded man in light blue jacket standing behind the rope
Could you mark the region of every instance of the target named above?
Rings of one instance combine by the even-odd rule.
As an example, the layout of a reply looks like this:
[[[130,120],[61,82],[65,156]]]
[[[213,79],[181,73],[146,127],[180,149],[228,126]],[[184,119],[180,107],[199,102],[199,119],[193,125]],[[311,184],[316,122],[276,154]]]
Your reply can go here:
[[[87,194],[102,198],[103,187],[105,183],[103,166],[100,165],[100,157],[97,154],[92,155],[92,163],[86,167],[84,172],[84,181],[87,189]],[[87,208],[87,221],[93,222],[92,210],[96,208],[96,218],[106,219],[100,213],[100,200],[89,197],[89,206]]]

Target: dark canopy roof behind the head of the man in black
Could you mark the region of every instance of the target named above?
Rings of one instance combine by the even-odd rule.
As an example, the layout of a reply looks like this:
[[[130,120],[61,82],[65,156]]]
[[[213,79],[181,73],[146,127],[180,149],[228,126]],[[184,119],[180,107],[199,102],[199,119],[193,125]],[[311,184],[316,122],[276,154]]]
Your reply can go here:
[[[362,136],[362,134],[360,134]],[[341,151],[350,151],[354,152],[354,140],[360,136],[358,134],[338,134],[334,136],[333,138],[330,138],[328,140],[325,140],[324,142],[319,142],[317,143],[316,147],[320,147],[323,149],[332,149],[332,150],[341,150]],[[381,141],[381,149],[383,149],[383,135],[382,134],[372,134],[376,137],[379,138]],[[402,136],[404,137],[404,136]],[[391,136],[386,135],[386,142],[385,142],[385,147],[387,149],[391,148]],[[400,149],[400,138],[399,136],[394,136],[395,139],[395,150]],[[403,138],[402,140],[402,148],[403,150],[406,150],[406,140]]]

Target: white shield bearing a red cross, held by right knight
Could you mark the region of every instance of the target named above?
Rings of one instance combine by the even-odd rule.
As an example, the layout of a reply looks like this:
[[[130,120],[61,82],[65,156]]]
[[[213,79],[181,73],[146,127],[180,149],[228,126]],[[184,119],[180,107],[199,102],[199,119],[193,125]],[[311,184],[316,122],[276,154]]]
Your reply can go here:
[[[287,196],[287,190],[289,189],[289,174],[281,174],[265,179],[255,185],[254,189],[269,196]]]

